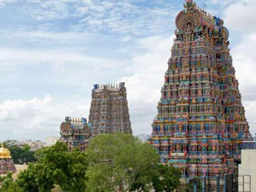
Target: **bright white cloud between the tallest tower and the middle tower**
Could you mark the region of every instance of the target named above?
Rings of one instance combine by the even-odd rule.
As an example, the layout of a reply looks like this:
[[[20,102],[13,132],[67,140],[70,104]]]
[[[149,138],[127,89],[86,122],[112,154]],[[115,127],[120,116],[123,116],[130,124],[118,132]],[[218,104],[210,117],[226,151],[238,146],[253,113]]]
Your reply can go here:
[[[164,83],[167,61],[170,57],[172,37],[143,38],[140,45],[145,53],[131,60],[131,76],[125,81],[131,113],[132,129],[135,135],[151,133],[151,124],[156,116],[157,103],[160,101],[160,88]]]

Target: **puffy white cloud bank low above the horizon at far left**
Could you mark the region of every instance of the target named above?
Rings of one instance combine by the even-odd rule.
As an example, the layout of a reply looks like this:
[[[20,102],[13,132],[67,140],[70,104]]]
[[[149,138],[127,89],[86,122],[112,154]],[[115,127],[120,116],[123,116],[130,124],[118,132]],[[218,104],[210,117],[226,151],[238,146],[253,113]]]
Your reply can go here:
[[[43,99],[6,101],[0,104],[0,141],[5,139],[45,139],[60,136],[66,115],[84,116],[88,106],[76,102],[60,103],[46,95]]]

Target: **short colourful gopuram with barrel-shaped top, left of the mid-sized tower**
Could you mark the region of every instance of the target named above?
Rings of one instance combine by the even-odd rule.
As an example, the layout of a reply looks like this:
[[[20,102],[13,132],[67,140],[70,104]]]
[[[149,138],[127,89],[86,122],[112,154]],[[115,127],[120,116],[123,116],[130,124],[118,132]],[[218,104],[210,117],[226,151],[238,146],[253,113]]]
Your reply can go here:
[[[90,137],[91,126],[84,118],[66,117],[65,122],[61,123],[60,141],[67,144],[69,152],[74,148],[79,148],[80,151],[86,150]]]

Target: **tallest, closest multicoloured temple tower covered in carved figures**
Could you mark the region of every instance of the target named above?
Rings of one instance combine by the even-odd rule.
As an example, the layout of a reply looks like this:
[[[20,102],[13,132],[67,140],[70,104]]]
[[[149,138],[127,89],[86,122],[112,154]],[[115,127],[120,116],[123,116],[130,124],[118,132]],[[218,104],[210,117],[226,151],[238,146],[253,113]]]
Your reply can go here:
[[[186,177],[237,173],[251,140],[224,20],[186,0],[149,143]]]

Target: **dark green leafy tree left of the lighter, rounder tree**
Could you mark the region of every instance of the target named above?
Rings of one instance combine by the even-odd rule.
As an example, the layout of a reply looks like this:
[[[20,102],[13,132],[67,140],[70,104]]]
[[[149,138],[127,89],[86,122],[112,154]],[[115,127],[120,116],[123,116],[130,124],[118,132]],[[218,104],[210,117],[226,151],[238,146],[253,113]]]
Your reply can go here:
[[[56,143],[44,150],[38,163],[29,164],[26,171],[20,173],[17,183],[24,192],[49,192],[55,185],[63,191],[84,192],[86,169],[84,153],[79,150],[67,153],[64,143]]]

